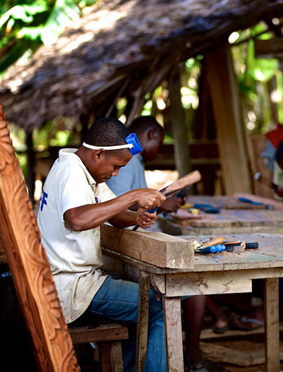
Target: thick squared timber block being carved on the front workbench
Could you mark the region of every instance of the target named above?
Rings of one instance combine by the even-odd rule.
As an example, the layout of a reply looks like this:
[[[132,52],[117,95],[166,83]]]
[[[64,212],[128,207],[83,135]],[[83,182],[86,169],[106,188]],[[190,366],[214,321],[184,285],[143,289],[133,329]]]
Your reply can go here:
[[[160,268],[193,268],[191,241],[161,232],[133,232],[102,225],[101,242],[105,248],[138,258]]]

